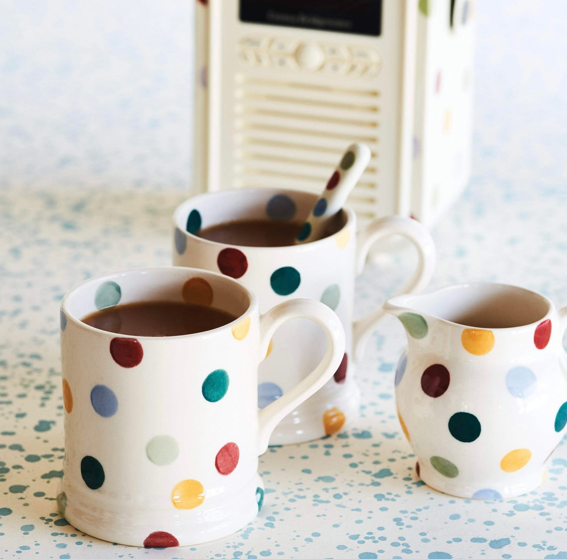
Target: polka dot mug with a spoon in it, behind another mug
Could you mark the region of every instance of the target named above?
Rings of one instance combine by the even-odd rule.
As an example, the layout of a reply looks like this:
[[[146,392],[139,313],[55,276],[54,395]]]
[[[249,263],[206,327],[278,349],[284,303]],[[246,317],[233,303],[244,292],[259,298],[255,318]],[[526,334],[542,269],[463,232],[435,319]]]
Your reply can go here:
[[[333,379],[280,422],[270,438],[274,445],[336,433],[349,417],[358,416],[355,364],[365,340],[385,314],[380,305],[361,320],[353,321],[354,279],[362,271],[374,242],[402,235],[416,246],[417,270],[401,292],[422,289],[434,269],[433,241],[420,223],[404,217],[386,217],[373,221],[357,234],[356,216],[349,208],[336,217],[335,233],[301,245],[227,245],[197,236],[202,228],[234,220],[264,219],[301,225],[317,199],[316,195],[299,190],[224,190],[188,199],[174,215],[176,266],[220,271],[239,279],[256,293],[262,311],[295,297],[324,302],[344,326],[346,351]],[[319,362],[324,348],[323,333],[312,322],[298,320],[282,326],[260,364],[259,406],[280,398],[301,381]]]

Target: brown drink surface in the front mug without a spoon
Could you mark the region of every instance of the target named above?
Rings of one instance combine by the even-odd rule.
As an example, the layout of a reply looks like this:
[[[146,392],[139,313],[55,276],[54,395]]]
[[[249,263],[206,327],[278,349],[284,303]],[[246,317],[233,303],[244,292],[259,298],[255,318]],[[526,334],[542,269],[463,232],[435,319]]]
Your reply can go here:
[[[88,314],[82,322],[128,336],[183,336],[213,330],[236,319],[223,310],[174,301],[125,303]]]

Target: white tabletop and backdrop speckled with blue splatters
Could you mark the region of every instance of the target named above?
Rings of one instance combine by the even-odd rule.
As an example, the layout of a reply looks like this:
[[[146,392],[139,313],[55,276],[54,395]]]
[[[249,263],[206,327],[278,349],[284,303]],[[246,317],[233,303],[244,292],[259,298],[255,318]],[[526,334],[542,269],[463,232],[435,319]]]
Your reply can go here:
[[[431,287],[498,280],[566,305],[567,8],[487,4],[476,7],[473,177],[433,230]],[[269,449],[263,509],[237,534],[196,548],[126,548],[57,514],[61,297],[90,275],[168,264],[170,216],[191,168],[191,8],[93,6],[0,8],[0,557],[566,559],[564,442],[541,487],[512,500],[460,500],[417,480],[393,400],[405,345],[393,318],[359,366],[359,419],[336,436]],[[404,258],[370,264],[358,310],[404,269]]]

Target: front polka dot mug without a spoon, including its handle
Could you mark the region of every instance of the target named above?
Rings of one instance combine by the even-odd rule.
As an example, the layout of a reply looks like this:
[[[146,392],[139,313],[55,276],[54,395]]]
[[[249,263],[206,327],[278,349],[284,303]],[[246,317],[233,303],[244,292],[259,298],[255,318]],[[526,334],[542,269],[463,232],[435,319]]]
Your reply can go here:
[[[210,305],[236,316],[181,336],[125,336],[81,322],[138,301]],[[257,408],[257,366],[274,330],[309,317],[328,348],[301,386]],[[173,547],[239,530],[260,510],[257,473],[274,426],[318,390],[344,352],[336,315],[316,301],[260,314],[238,281],[191,268],[89,279],[61,307],[65,460],[57,501],[78,530],[126,545]]]

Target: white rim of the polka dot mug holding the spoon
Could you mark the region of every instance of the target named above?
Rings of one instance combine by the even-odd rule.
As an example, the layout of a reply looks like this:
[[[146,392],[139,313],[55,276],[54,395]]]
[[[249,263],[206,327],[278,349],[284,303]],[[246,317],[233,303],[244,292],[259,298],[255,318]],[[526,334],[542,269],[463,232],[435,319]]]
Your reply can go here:
[[[183,227],[180,221],[180,215],[184,212],[185,208],[187,206],[189,206],[189,204],[195,200],[198,200],[200,198],[216,198],[216,197],[230,197],[230,196],[235,196],[237,195],[237,193],[245,193],[247,195],[252,195],[254,193],[258,193],[258,192],[273,192],[274,195],[276,194],[292,194],[292,195],[299,195],[299,196],[303,196],[303,197],[308,197],[308,198],[312,198],[313,202],[315,203],[315,201],[319,198],[318,194],[312,193],[312,192],[308,192],[306,190],[299,190],[299,189],[290,189],[290,188],[274,188],[274,187],[270,187],[270,186],[252,186],[252,187],[246,187],[246,188],[232,188],[232,189],[223,189],[223,190],[209,190],[206,192],[202,192],[199,194],[195,194],[193,195],[191,198],[186,198],[185,200],[183,200],[183,202],[181,202],[174,211],[174,214],[172,216],[173,218],[173,222],[174,222],[174,227],[176,229],[179,229],[179,231],[181,231],[181,233],[183,233],[185,236],[191,238],[194,241],[197,242],[202,242],[204,244],[210,244],[212,246],[234,246],[236,248],[239,249],[244,249],[247,251],[259,251],[259,252],[263,252],[266,250],[269,251],[291,251],[291,250],[299,250],[299,251],[307,251],[307,250],[316,250],[316,246],[318,246],[318,244],[323,243],[323,242],[330,242],[331,240],[335,240],[335,237],[339,234],[341,234],[342,232],[345,231],[346,228],[348,227],[354,227],[355,231],[356,231],[356,214],[354,212],[354,210],[349,207],[349,206],[343,206],[341,208],[340,211],[344,212],[345,215],[345,223],[342,225],[342,227],[340,229],[338,229],[338,231],[336,231],[335,233],[327,236],[327,237],[323,237],[320,238],[316,241],[308,241],[308,242],[303,242],[301,244],[298,245],[284,245],[284,246],[250,246],[250,245],[239,245],[239,244],[235,244],[235,243],[226,243],[226,242],[220,242],[220,241],[211,241],[209,239],[200,237],[194,233],[190,233],[189,231],[187,231],[187,229],[185,229],[185,227]],[[289,220],[291,221],[291,220]],[[222,222],[219,222],[222,223]],[[297,223],[301,223],[301,222],[297,222]]]

